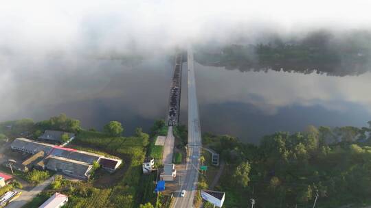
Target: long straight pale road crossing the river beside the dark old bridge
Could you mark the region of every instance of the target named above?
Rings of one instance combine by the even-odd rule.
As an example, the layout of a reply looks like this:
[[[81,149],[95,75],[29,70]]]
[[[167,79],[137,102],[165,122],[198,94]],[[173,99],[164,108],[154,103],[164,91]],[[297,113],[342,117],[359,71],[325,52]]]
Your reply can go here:
[[[172,207],[193,207],[194,195],[199,178],[199,158],[201,155],[201,127],[199,120],[199,105],[196,96],[196,81],[194,79],[193,51],[188,47],[188,154],[186,174],[181,179],[181,190],[186,190],[186,196],[175,196]],[[181,192],[179,190],[179,192]]]

